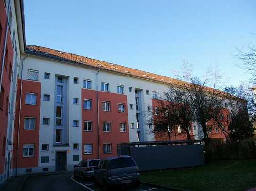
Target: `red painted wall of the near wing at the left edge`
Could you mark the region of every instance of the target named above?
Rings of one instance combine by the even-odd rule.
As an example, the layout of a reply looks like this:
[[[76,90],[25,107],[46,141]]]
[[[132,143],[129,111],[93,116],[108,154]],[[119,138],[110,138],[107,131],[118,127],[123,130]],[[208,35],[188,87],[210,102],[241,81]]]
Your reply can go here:
[[[6,10],[5,10],[5,5],[4,1],[0,1],[0,67],[1,61],[2,61],[2,56],[3,56],[3,46],[4,46],[4,33],[5,33],[5,28],[6,28]],[[12,66],[12,61],[13,61],[13,47],[12,47],[12,42],[11,42],[11,36],[10,36],[10,31],[8,30],[8,35],[7,35],[7,46],[6,49],[8,53],[6,54],[5,57],[5,64],[3,68],[3,77],[2,77],[2,88],[4,89],[4,93],[1,95],[3,96],[3,104],[2,107],[0,107],[0,173],[4,172],[4,164],[5,164],[5,151],[4,145],[7,142],[7,124],[8,124],[8,100],[10,98],[9,92],[10,92],[10,84],[11,84],[11,78],[9,78],[9,72],[10,72],[10,66]],[[1,87],[0,87],[1,90]],[[6,142],[4,143],[4,138],[6,138]]]

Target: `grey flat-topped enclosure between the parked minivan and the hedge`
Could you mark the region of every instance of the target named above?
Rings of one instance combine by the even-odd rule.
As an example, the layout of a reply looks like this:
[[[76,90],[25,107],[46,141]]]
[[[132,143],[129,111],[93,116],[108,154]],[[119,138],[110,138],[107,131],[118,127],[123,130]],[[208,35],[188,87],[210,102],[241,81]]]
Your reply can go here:
[[[204,165],[200,141],[135,142],[117,145],[118,155],[129,155],[139,171]]]

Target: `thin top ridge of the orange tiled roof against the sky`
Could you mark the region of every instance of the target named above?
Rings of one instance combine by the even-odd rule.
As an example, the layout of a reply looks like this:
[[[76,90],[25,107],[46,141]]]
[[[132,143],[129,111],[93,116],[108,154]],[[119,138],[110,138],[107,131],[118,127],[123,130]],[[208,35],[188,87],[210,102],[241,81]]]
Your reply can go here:
[[[42,47],[42,48],[47,48],[47,49],[50,49],[50,50],[53,50],[53,51],[58,51],[58,52],[62,52],[62,53],[68,53],[68,52],[65,52],[65,51],[61,51],[61,50],[57,50],[57,49],[52,49],[52,48],[48,48],[48,47],[45,47],[45,46],[38,46],[38,45],[27,45],[28,46],[37,46],[37,47]],[[91,58],[91,57],[87,57],[87,56],[82,56],[82,55],[78,55],[78,54],[75,54],[75,53],[68,53],[68,54],[74,54],[76,56],[81,56],[81,57],[85,57],[85,58],[88,58],[88,59],[92,59],[92,60],[95,60],[95,61],[102,61],[102,60],[99,60],[99,59],[95,59],[95,58]],[[116,63],[112,63],[112,62],[108,62],[108,61],[102,61],[102,62],[105,62],[105,63],[108,63],[108,64],[114,64],[116,66],[120,66],[120,67],[125,67],[127,69],[134,69],[134,68],[131,68],[131,67],[127,67],[127,66],[122,66],[122,65],[119,65],[119,64],[116,64]],[[153,75],[157,75],[157,76],[162,76],[162,77],[168,77],[168,76],[163,76],[163,75],[160,75],[160,74],[155,74],[155,73],[152,73],[152,72],[147,72],[147,71],[144,71],[144,70],[141,70],[141,69],[135,69],[135,70],[138,70],[140,72],[144,72],[145,74],[153,74]],[[177,80],[177,81],[180,81],[180,82],[183,82],[182,80],[180,79],[176,79],[176,78],[173,78],[173,77],[168,77],[172,80]]]

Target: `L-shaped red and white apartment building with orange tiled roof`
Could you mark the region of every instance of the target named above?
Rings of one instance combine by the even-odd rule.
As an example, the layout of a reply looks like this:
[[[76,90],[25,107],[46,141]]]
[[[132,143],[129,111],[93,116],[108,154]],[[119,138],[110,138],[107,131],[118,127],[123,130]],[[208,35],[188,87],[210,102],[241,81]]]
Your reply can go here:
[[[72,170],[80,160],[116,155],[118,143],[168,140],[152,133],[148,113],[179,80],[26,46],[22,0],[0,0],[0,53],[0,183]],[[190,135],[202,136],[196,122]],[[184,139],[179,128],[172,135]]]

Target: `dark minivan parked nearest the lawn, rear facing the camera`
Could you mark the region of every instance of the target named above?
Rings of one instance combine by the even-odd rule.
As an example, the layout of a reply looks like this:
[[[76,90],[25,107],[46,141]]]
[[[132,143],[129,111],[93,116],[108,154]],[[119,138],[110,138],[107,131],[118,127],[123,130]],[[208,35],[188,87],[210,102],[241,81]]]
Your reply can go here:
[[[121,155],[100,160],[94,173],[95,183],[103,185],[106,190],[113,185],[132,183],[140,185],[140,173],[135,160]]]

